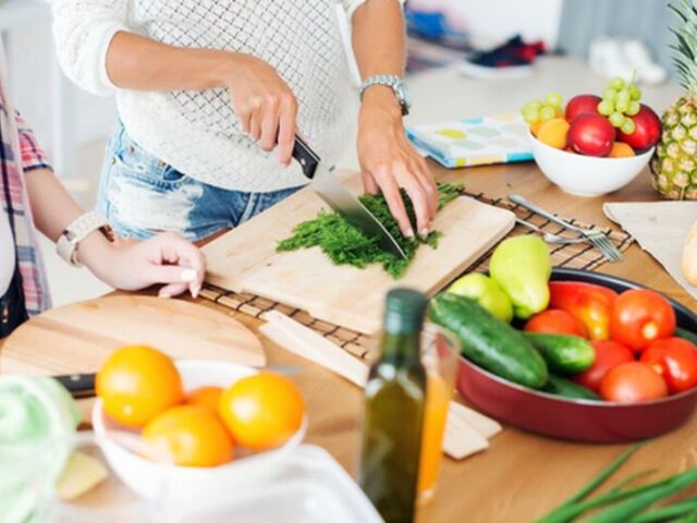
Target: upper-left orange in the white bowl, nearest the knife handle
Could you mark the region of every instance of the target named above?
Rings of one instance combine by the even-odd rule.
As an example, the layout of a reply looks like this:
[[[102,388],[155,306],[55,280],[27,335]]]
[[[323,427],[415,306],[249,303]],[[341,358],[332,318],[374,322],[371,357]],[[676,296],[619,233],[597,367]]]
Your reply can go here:
[[[184,399],[172,360],[145,345],[124,346],[111,354],[97,373],[96,392],[109,417],[131,428],[145,426]]]

